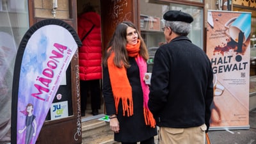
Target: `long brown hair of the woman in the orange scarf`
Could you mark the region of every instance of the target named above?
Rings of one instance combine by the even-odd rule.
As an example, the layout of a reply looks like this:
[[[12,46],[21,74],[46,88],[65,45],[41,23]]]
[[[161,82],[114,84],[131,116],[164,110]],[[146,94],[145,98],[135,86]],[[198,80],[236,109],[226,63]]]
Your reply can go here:
[[[130,67],[129,65],[129,56],[127,54],[126,50],[126,36],[127,36],[127,28],[131,27],[136,29],[138,32],[138,39],[140,39],[141,44],[140,44],[140,55],[145,59],[148,60],[148,51],[147,51],[147,46],[141,37],[138,29],[132,22],[130,21],[124,21],[121,22],[116,26],[116,30],[109,41],[108,44],[108,49],[105,50],[104,58],[102,60],[102,64],[106,67],[108,65],[108,58],[112,52],[115,52],[115,58],[114,58],[114,63],[116,67],[124,67],[128,68]],[[109,49],[110,48],[110,49]]]

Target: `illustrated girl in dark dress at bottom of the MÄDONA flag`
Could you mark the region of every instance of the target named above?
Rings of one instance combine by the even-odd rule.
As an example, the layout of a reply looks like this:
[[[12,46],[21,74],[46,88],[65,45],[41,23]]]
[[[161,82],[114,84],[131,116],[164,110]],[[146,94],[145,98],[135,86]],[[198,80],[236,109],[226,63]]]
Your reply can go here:
[[[24,115],[26,115],[26,125],[23,129],[19,130],[19,133],[21,134],[22,132],[25,131],[26,129],[26,138],[25,138],[25,144],[29,144],[31,142],[32,136],[36,136],[36,116],[33,115],[33,109],[34,106],[33,104],[28,104],[26,106],[25,111],[20,111]],[[34,127],[33,127],[34,124]]]

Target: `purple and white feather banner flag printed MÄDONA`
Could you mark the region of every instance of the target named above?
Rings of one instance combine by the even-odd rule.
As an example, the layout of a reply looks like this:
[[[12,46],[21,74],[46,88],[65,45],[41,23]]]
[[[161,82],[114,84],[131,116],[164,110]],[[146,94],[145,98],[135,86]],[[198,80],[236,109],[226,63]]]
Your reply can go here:
[[[12,144],[34,144],[81,40],[66,22],[37,22],[22,38],[12,88]]]

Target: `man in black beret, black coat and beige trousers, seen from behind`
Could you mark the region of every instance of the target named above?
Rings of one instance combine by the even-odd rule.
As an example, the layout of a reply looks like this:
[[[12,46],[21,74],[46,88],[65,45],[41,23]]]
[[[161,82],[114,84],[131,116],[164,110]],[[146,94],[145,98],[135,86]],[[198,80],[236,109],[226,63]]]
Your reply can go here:
[[[148,108],[161,144],[202,144],[213,99],[211,62],[187,37],[191,15],[170,10],[163,18],[166,44],[154,57]]]

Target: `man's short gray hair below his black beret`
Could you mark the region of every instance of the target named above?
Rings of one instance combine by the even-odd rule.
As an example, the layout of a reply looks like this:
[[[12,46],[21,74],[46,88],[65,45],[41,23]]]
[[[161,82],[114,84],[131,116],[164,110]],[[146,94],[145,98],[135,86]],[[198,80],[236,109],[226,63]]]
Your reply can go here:
[[[174,33],[178,35],[187,36],[191,29],[191,24],[181,21],[168,21],[165,20],[164,26],[170,27]]]

